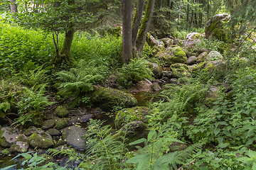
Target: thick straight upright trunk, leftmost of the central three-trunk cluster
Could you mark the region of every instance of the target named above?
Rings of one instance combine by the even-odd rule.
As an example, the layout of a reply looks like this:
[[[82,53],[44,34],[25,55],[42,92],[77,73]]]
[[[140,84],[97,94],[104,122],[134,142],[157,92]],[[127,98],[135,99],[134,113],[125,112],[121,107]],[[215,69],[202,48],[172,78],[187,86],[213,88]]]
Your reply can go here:
[[[132,59],[132,1],[122,0],[122,55],[123,62],[128,64]]]

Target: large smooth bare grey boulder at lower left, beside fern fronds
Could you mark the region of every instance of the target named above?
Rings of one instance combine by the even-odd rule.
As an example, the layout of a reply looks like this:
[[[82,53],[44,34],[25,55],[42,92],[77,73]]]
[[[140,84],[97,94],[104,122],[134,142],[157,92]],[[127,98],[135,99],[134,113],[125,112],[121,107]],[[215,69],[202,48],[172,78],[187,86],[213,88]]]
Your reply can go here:
[[[71,147],[77,149],[86,149],[85,145],[85,134],[86,130],[77,126],[70,126],[63,129],[63,140],[68,143]]]

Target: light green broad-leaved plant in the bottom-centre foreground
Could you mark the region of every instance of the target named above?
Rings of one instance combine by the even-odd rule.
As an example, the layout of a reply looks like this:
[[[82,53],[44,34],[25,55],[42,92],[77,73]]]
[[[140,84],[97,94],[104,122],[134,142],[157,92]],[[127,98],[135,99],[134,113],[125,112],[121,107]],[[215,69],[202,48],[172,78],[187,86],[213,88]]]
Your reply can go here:
[[[135,169],[150,170],[169,170],[177,169],[177,165],[186,164],[187,160],[192,157],[194,152],[201,149],[201,144],[191,145],[185,150],[179,152],[170,152],[170,145],[173,142],[181,142],[176,140],[176,132],[174,132],[169,123],[154,123],[147,139],[142,138],[129,145],[137,145],[144,142],[145,147],[137,147],[139,150],[135,156],[126,162],[136,164]]]

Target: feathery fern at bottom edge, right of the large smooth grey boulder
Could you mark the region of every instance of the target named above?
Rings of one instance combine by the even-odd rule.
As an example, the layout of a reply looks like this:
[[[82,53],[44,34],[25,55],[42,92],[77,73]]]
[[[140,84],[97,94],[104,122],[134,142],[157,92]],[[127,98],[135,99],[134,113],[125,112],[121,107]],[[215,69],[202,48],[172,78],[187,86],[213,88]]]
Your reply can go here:
[[[110,125],[102,127],[102,121],[90,120],[87,127],[87,159],[80,164],[84,169],[124,169],[124,156],[127,153],[124,136],[114,139]]]

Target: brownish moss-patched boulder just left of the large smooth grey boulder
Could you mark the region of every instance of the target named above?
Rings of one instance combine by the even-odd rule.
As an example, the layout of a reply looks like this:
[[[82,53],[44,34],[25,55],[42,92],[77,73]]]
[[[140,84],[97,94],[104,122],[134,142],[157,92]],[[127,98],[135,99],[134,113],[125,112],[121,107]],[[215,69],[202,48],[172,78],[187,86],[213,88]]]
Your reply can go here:
[[[30,137],[28,137],[28,142],[32,147],[38,147],[41,149],[46,149],[53,146],[53,138],[43,130],[38,130],[34,132]]]

